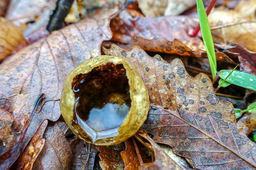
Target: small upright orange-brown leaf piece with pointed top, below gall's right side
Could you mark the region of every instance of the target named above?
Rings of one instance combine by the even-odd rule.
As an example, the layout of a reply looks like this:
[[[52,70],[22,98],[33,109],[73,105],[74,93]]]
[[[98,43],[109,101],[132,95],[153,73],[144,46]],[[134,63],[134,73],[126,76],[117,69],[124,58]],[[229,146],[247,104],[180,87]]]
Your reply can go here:
[[[125,170],[133,170],[139,168],[139,158],[131,138],[125,141],[125,150],[121,152],[121,156],[125,164]]]

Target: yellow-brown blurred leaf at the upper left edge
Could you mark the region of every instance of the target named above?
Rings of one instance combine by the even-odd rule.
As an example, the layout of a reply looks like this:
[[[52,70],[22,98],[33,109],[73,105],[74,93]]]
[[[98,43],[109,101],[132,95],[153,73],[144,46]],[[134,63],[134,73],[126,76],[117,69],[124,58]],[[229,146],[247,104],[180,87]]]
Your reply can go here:
[[[0,61],[23,41],[23,29],[0,17]]]

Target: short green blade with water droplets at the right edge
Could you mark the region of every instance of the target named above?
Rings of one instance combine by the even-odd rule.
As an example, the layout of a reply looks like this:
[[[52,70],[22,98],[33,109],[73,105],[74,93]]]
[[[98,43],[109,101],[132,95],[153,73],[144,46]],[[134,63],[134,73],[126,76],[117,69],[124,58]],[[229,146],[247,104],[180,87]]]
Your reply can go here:
[[[219,77],[225,79],[232,70],[219,71]],[[235,84],[240,87],[256,91],[256,76],[242,71],[233,71],[226,79],[227,82]]]

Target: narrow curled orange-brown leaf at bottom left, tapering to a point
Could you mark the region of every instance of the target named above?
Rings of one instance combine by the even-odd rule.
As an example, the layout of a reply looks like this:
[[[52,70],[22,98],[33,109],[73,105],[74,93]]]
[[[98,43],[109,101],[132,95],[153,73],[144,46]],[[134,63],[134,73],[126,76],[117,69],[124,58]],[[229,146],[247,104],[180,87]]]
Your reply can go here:
[[[34,161],[44,147],[45,139],[43,138],[44,131],[47,127],[48,121],[44,120],[39,126],[36,134],[31,138],[20,158],[14,165],[16,169],[31,170]]]

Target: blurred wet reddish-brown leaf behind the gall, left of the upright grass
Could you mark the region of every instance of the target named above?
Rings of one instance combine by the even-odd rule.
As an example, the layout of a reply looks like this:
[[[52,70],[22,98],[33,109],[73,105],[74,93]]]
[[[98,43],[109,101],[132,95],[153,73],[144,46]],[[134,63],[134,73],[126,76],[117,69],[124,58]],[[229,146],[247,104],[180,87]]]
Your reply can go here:
[[[187,16],[175,17],[132,17],[127,11],[122,11],[110,23],[113,32],[112,41],[123,44],[136,42],[136,37],[153,39],[160,35],[168,41],[178,39],[191,50],[204,50],[203,41],[198,37],[189,36],[187,33],[194,30],[198,21]],[[136,36],[132,39],[133,36]]]

